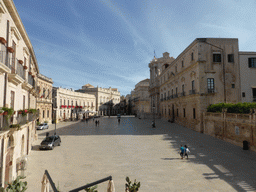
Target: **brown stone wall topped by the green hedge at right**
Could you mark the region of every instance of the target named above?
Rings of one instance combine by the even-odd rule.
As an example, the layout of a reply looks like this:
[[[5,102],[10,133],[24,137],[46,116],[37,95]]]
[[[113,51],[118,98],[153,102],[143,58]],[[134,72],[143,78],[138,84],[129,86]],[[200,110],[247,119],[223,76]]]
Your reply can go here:
[[[205,112],[203,114],[203,127],[205,134],[241,147],[243,141],[248,141],[250,149],[256,151],[256,113]]]

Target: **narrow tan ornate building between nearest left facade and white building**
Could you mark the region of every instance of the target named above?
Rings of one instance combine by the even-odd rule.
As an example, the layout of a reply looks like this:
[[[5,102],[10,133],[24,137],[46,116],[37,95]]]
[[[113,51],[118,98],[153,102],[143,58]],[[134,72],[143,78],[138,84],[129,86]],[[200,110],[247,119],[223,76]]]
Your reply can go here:
[[[37,109],[39,111],[40,123],[47,122],[52,123],[52,84],[51,78],[48,78],[42,74],[37,76],[37,92],[38,97],[36,99]]]

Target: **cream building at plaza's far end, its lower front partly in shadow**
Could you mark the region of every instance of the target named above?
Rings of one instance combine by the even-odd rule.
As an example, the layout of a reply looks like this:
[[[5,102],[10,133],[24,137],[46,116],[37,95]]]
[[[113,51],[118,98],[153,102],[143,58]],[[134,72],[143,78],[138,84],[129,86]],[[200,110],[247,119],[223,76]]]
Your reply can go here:
[[[101,88],[86,84],[76,92],[88,93],[96,97],[96,111],[99,115],[113,115],[120,111],[120,92],[117,88]]]

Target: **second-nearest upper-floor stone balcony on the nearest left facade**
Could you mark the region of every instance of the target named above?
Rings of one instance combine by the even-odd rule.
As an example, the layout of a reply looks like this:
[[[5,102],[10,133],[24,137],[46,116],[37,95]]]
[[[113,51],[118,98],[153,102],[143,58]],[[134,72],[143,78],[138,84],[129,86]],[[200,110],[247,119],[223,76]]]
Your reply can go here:
[[[11,60],[13,61],[13,60]],[[16,62],[16,67],[15,64],[11,66],[11,74],[8,76],[8,80],[12,82],[14,85],[18,85],[20,83],[23,83],[25,80],[25,70],[21,64],[19,64],[18,60],[15,59]]]

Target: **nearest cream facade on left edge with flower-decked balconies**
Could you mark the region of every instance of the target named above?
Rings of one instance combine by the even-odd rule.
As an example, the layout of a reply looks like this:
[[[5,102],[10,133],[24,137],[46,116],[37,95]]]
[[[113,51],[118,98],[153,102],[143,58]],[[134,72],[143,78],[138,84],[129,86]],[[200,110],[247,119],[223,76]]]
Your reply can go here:
[[[38,73],[32,44],[13,1],[0,0],[0,186],[23,174],[22,165],[37,139]]]

